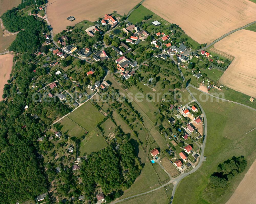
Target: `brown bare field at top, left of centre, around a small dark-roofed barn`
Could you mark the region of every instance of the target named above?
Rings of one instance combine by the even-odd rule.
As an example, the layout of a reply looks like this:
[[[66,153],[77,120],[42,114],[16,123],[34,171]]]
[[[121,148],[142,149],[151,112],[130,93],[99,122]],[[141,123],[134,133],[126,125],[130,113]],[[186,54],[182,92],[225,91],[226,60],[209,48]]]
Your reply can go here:
[[[128,14],[139,2],[141,0],[131,0],[129,3],[125,0],[49,0],[46,12],[54,33],[59,33],[65,30],[67,26],[74,26],[82,20],[94,22],[99,17],[104,17],[105,14],[110,14],[114,10],[120,15]],[[76,20],[67,20],[69,16],[73,16]]]

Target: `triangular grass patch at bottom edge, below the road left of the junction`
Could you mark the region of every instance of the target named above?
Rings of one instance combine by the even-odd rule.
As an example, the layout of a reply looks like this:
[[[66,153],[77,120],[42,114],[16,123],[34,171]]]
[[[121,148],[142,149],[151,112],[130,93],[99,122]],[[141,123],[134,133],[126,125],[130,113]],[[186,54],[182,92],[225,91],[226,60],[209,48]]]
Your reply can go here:
[[[153,193],[138,196],[129,200],[120,202],[120,204],[137,204],[137,203],[147,203],[147,204],[169,204],[169,198],[172,195],[172,187],[167,186],[169,190],[165,191],[164,188],[158,189]],[[169,198],[168,198],[169,197]]]

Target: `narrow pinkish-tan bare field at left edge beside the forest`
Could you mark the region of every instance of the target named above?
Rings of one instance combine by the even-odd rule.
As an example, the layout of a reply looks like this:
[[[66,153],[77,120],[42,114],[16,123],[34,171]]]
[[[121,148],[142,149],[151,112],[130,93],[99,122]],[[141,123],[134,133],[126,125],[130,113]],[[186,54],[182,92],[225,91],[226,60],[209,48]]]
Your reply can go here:
[[[2,95],[4,91],[4,85],[10,78],[10,73],[12,72],[13,66],[13,55],[5,54],[0,55],[0,100],[2,100]]]

